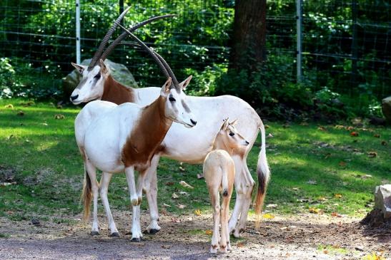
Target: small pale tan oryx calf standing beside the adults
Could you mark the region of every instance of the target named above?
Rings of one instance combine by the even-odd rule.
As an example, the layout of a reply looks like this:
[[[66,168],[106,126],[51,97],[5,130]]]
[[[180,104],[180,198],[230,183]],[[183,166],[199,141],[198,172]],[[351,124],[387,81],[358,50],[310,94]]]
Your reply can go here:
[[[204,160],[204,178],[207,182],[209,197],[213,209],[213,235],[211,253],[217,253],[217,246],[220,250],[227,253],[231,250],[229,244],[229,201],[231,200],[232,189],[235,178],[235,165],[231,156],[235,155],[237,148],[249,145],[247,140],[240,135],[234,128],[237,120],[229,123],[228,118],[224,121],[222,127],[217,133],[213,142],[213,150],[207,154]],[[222,206],[220,211],[219,192],[222,192]],[[219,224],[222,227],[220,238]]]

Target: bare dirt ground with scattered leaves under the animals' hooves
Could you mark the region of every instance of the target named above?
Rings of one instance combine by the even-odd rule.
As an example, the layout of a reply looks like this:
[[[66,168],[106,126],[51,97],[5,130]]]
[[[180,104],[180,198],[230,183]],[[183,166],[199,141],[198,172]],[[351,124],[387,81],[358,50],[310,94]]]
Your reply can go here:
[[[249,219],[241,239],[231,239],[229,254],[209,254],[212,216],[163,214],[162,230],[130,242],[131,216],[114,213],[119,238],[108,236],[100,216],[101,234],[90,236],[89,224],[40,221],[11,222],[0,218],[0,259],[391,259],[391,229],[367,229],[360,219],[299,214],[264,219],[254,229]],[[147,227],[147,212],[142,225]],[[372,256],[372,258],[369,258]]]

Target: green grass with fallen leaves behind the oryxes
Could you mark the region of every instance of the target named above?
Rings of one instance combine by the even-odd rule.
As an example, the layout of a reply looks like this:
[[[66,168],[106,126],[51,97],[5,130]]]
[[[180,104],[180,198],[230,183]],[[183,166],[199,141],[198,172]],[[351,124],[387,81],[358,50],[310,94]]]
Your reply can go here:
[[[0,179],[11,175],[16,182],[0,186],[0,216],[21,220],[81,212],[83,165],[74,140],[74,118],[79,109],[0,100]],[[273,214],[309,212],[312,208],[323,214],[363,216],[370,210],[365,205],[372,204],[375,186],[391,182],[390,128],[268,125],[267,134],[273,135],[267,138],[272,179],[265,204],[277,204],[267,209]],[[352,131],[359,135],[352,137]],[[372,154],[376,156],[368,156],[369,152],[376,152]],[[254,147],[248,158],[254,180],[258,153],[259,148]],[[159,210],[210,212],[204,180],[197,179],[201,172],[202,165],[162,159],[158,168]],[[194,189],[182,187],[181,180]],[[109,201],[114,210],[130,209],[126,183],[124,175],[112,178]],[[172,199],[173,192],[181,191],[187,194]],[[177,204],[187,207],[179,209]],[[142,207],[147,209],[146,199]],[[103,212],[102,206],[99,211]]]

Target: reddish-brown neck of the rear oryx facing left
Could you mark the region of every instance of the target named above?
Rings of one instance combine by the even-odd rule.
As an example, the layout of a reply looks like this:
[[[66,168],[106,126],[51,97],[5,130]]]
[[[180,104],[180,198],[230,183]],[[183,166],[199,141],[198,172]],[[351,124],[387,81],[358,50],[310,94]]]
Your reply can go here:
[[[117,105],[127,102],[134,103],[134,90],[133,88],[127,88],[109,75],[104,80],[101,100],[110,101]]]

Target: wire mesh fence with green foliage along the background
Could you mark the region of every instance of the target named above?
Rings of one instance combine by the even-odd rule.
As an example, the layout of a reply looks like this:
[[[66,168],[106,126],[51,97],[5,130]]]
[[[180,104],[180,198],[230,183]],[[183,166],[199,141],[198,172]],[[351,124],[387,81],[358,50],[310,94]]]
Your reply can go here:
[[[1,69],[11,64],[24,85],[61,93],[61,78],[76,61],[75,3],[65,0],[3,0],[0,6]],[[179,80],[194,81],[227,70],[233,0],[132,1],[124,24],[151,16],[178,14],[140,28],[137,36],[167,59]],[[286,61],[296,81],[296,1],[267,1],[267,54]],[[312,91],[327,86],[340,93],[390,94],[390,4],[387,1],[303,1],[303,80]],[[81,1],[81,59],[91,58],[112,21],[119,1]],[[116,31],[115,36],[119,34]],[[146,53],[118,46],[112,61],[124,63],[140,86],[164,82]],[[211,76],[212,77],[212,76]],[[13,88],[18,88],[14,80]],[[204,81],[202,81],[205,83]],[[194,84],[197,88],[197,83]],[[276,86],[278,88],[279,86]],[[197,91],[194,91],[197,93]]]

